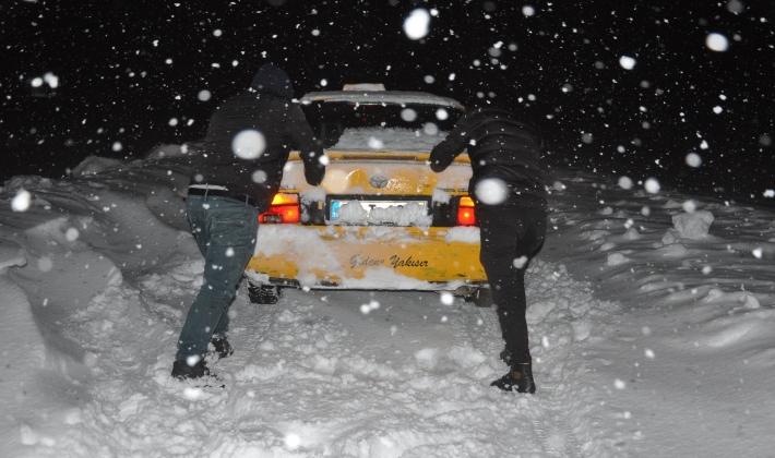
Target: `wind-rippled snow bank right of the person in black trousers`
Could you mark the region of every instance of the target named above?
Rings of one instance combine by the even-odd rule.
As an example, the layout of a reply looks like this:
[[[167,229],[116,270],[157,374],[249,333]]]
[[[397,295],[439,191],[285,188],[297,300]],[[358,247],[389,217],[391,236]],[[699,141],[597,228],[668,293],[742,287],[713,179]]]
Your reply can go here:
[[[607,430],[596,444],[616,444],[612,456],[716,455],[731,443],[766,455],[775,443],[763,424],[775,402],[760,387],[775,363],[767,330],[775,268],[764,240],[775,215],[671,190],[622,190],[591,173],[555,173],[547,178],[565,188],[550,197],[540,256],[562,262],[623,310],[593,318],[613,335],[599,338],[593,328],[581,342],[584,377],[597,384],[589,401],[600,403],[598,419],[610,419],[595,420]],[[585,207],[593,202],[606,206]],[[536,305],[532,320],[556,310]],[[583,326],[574,330],[586,335]]]

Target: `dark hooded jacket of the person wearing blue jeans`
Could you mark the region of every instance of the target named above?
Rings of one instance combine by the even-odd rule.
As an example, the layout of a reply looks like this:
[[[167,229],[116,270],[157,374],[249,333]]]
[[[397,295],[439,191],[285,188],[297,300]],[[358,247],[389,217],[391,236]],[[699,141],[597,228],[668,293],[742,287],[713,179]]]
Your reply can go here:
[[[190,184],[249,195],[264,213],[279,189],[291,146],[305,162],[307,182],[320,184],[325,174],[319,160],[323,147],[293,97],[288,74],[271,63],[262,65],[250,88],[223,103],[211,117]]]

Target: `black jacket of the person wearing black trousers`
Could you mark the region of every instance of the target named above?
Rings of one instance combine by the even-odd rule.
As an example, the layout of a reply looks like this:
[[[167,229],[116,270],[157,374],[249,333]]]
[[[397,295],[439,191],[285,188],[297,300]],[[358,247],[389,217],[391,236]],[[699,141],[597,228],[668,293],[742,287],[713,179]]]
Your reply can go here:
[[[452,132],[433,147],[430,168],[443,171],[468,148],[474,172],[468,190],[477,205],[486,205],[476,197],[477,183],[497,178],[509,190],[504,203],[545,207],[541,146],[538,131],[517,120],[513,112],[499,107],[477,107],[466,111]]]

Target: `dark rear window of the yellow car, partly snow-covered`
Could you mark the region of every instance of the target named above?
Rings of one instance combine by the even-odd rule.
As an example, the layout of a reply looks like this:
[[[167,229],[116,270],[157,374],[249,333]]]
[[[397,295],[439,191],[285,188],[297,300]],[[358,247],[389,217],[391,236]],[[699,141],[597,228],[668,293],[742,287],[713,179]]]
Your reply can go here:
[[[337,145],[345,132],[373,132],[377,136],[380,130],[445,133],[462,114],[455,107],[424,104],[313,101],[301,109],[324,148]]]

